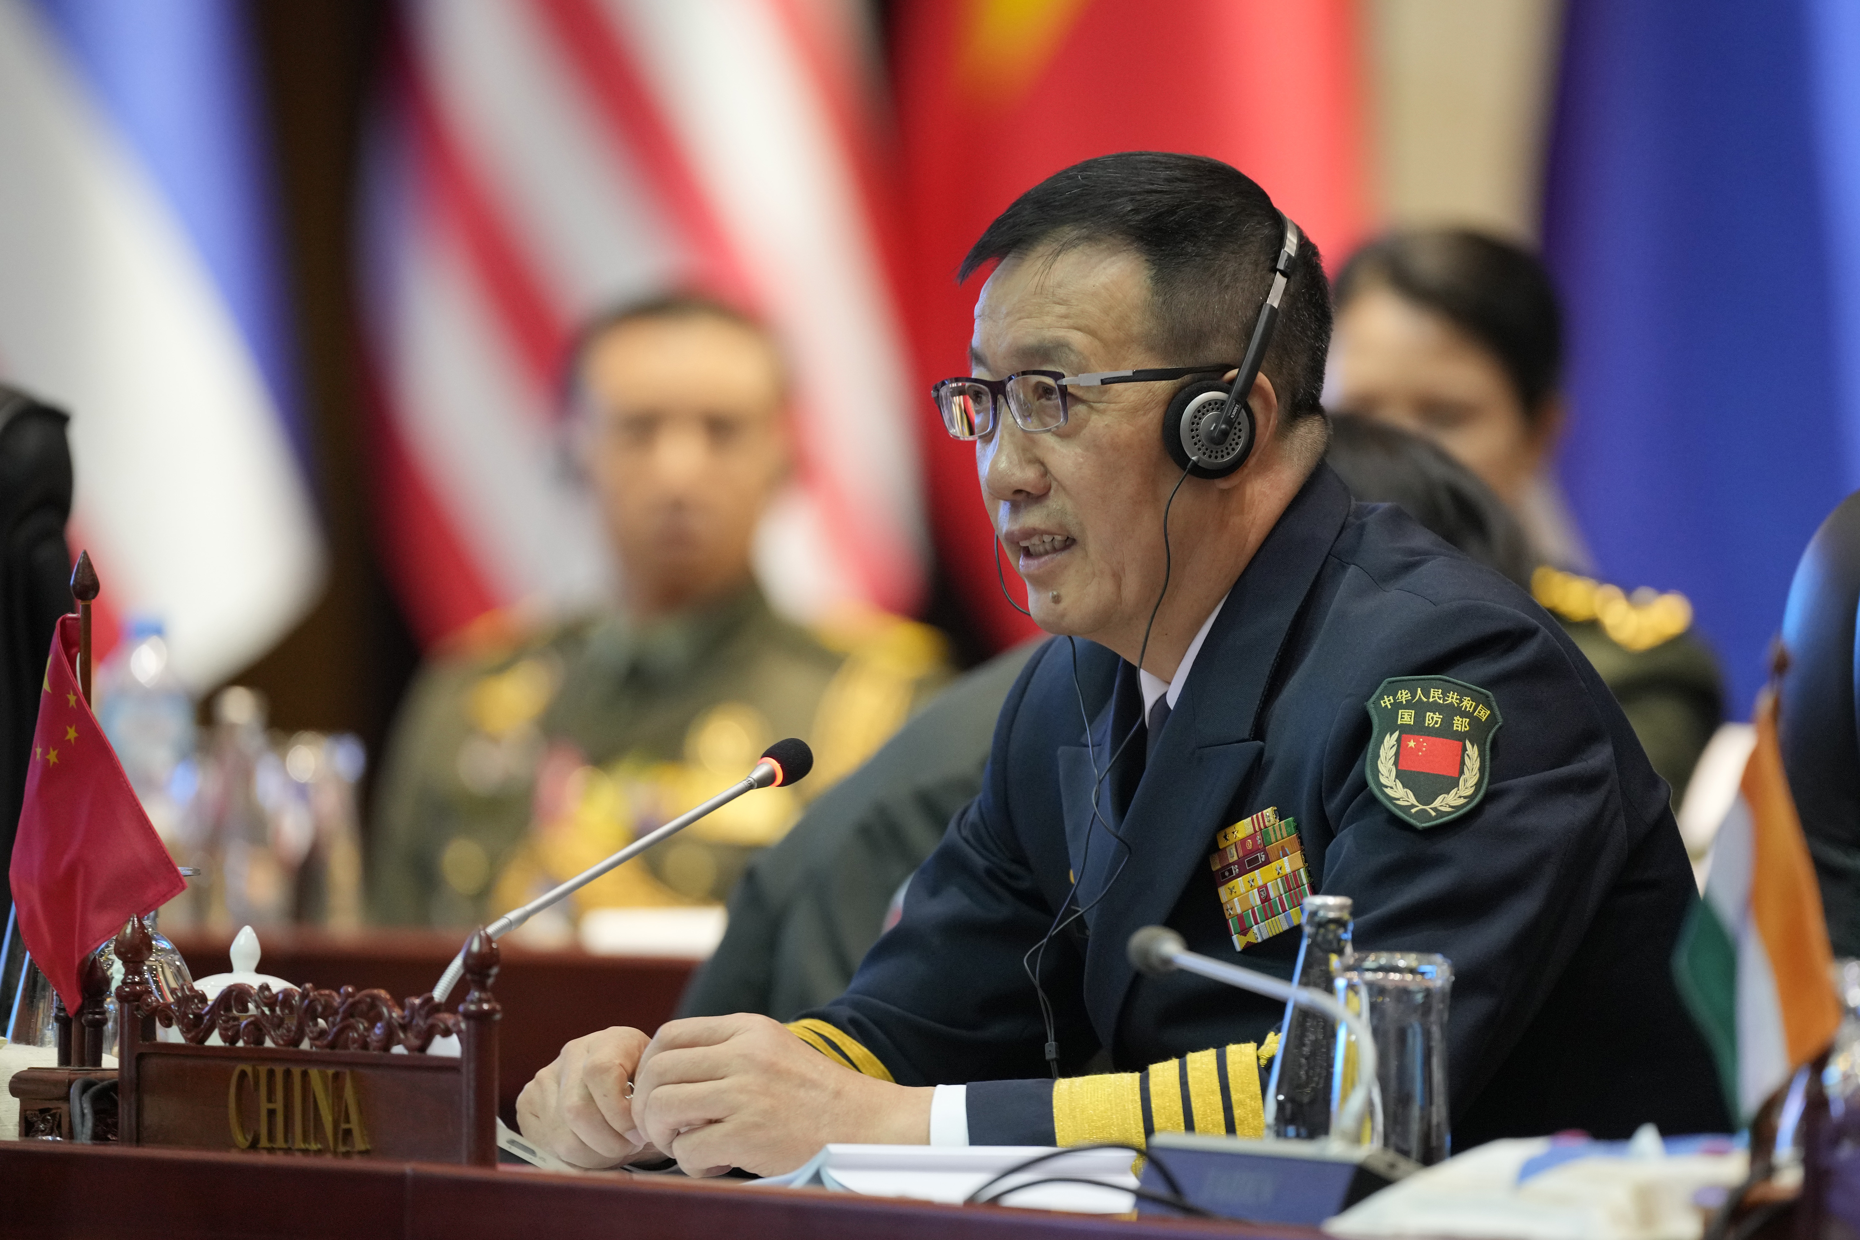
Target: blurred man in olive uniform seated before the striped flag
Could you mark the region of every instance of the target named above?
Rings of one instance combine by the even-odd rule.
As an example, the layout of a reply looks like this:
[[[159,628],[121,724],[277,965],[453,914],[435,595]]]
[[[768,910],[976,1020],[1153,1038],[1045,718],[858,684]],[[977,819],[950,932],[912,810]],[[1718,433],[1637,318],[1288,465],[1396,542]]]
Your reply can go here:
[[[804,736],[809,783],[729,805],[562,917],[720,902],[802,798],[943,679],[930,628],[878,617],[811,632],[757,589],[755,528],[790,461],[783,366],[761,325],[692,297],[629,307],[584,333],[575,389],[619,606],[422,671],[376,805],[378,922],[461,926],[525,904]]]

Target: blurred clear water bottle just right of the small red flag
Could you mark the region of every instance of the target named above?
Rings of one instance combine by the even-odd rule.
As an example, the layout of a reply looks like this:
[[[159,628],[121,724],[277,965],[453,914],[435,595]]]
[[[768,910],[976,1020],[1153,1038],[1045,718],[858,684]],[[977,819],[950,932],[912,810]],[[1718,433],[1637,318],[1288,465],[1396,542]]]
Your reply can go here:
[[[97,721],[156,835],[184,861],[199,786],[193,697],[169,666],[162,621],[132,615],[123,625],[123,641],[97,669]]]

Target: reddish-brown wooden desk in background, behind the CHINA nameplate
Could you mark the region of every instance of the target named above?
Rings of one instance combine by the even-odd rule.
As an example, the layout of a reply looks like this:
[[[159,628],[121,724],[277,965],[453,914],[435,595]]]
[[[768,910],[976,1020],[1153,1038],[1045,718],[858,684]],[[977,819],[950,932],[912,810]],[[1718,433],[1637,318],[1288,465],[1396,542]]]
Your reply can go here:
[[[227,935],[180,931],[171,935],[195,978],[232,969]],[[259,933],[259,970],[286,982],[326,987],[381,987],[396,1000],[424,995],[439,982],[465,935],[432,930],[272,928]],[[498,944],[504,967],[497,974],[498,1110],[515,1127],[517,1093],[562,1050],[562,1043],[610,1024],[632,1024],[651,1034],[671,1019],[692,974],[692,961],[642,956],[591,956],[580,948],[538,950],[508,939]],[[465,987],[452,993],[452,1008]]]

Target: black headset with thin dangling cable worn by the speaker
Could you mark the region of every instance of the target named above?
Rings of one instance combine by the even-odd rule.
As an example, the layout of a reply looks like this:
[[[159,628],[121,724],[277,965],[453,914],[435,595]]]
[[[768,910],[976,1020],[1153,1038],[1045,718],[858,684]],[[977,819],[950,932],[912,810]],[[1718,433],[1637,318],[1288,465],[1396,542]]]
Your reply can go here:
[[[1280,219],[1285,225],[1283,242],[1280,244],[1278,260],[1272,264],[1272,286],[1267,290],[1265,305],[1259,307],[1259,318],[1254,322],[1254,336],[1246,344],[1246,353],[1241,357],[1239,374],[1231,385],[1218,379],[1203,379],[1198,383],[1189,383],[1170,400],[1168,409],[1162,415],[1162,446],[1176,465],[1181,467],[1181,478],[1176,480],[1176,487],[1168,493],[1168,502],[1162,506],[1162,589],[1157,591],[1155,606],[1149,608],[1149,621],[1144,625],[1144,641],[1136,654],[1136,666],[1142,667],[1144,656],[1149,651],[1149,630],[1157,623],[1157,613],[1162,610],[1162,599],[1168,595],[1168,584],[1174,571],[1174,556],[1168,545],[1168,515],[1176,508],[1176,496],[1181,493],[1181,485],[1189,478],[1226,478],[1228,474],[1241,468],[1246,457],[1254,452],[1254,411],[1246,403],[1248,394],[1254,390],[1254,379],[1259,377],[1259,366],[1265,363],[1267,350],[1272,346],[1272,329],[1278,325],[1278,307],[1280,299],[1285,296],[1285,284],[1291,281],[1291,264],[1298,257],[1298,245],[1304,240],[1298,232],[1298,225],[1291,221],[1289,216],[1280,212]],[[990,522],[993,524],[993,522]],[[1021,615],[1030,615],[1030,612],[1014,600],[1008,593],[1006,574],[1001,571],[1001,539],[990,530],[990,548],[995,560],[995,580],[1001,584],[1001,595],[1008,600]],[[1058,1080],[1058,1030],[1053,1019],[1053,1002],[1045,995],[1045,987],[1040,983],[1042,965],[1045,963],[1047,944],[1058,935],[1066,926],[1083,918],[1092,907],[1096,907],[1110,889],[1116,885],[1118,877],[1123,876],[1123,866],[1131,859],[1131,842],[1114,831],[1105,816],[1099,812],[1099,794],[1105,786],[1105,777],[1123,757],[1131,740],[1146,725],[1142,712],[1138,712],[1136,723],[1131,731],[1123,734],[1116,749],[1110,751],[1110,759],[1103,768],[1097,766],[1097,745],[1092,740],[1092,719],[1084,706],[1084,690],[1079,686],[1079,643],[1073,638],[1066,638],[1071,647],[1071,688],[1073,695],[1079,699],[1079,719],[1084,725],[1084,744],[1086,755],[1092,762],[1092,822],[1101,825],[1105,835],[1109,835],[1120,848],[1123,848],[1123,857],[1118,861],[1118,868],[1110,872],[1105,879],[1105,887],[1092,898],[1086,905],[1075,905],[1079,894],[1079,883],[1084,879],[1084,864],[1092,855],[1092,831],[1084,833],[1084,850],[1079,857],[1079,866],[1071,876],[1071,889],[1060,902],[1058,913],[1053,915],[1053,924],[1047,928],[1040,943],[1027,948],[1027,956],[1021,957],[1021,969],[1027,980],[1034,985],[1034,996],[1040,1000],[1040,1019],[1045,1024],[1045,1062],[1053,1078]]]

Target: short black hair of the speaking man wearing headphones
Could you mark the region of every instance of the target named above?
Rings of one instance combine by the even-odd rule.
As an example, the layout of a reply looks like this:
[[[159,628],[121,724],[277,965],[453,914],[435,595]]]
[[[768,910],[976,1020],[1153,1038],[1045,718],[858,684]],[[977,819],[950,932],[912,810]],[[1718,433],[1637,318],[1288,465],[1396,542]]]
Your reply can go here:
[[[1239,363],[1283,240],[1272,199],[1239,169],[1200,154],[1125,151],[1073,164],[1014,199],[958,279],[1042,245],[1129,245],[1149,266],[1162,357],[1179,366]],[[1330,286],[1317,245],[1304,238],[1261,366],[1287,424],[1322,413],[1328,348]]]

